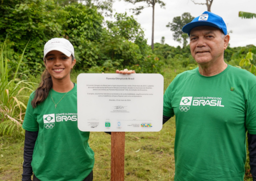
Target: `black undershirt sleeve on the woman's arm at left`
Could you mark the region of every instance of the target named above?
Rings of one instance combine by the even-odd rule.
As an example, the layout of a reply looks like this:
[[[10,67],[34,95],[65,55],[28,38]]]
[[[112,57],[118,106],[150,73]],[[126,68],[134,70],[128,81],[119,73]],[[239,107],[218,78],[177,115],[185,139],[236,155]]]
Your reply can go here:
[[[26,130],[25,132],[22,181],[31,181],[31,176],[33,175],[31,162],[32,162],[32,155],[34,151],[34,144],[37,136],[38,136],[38,131]]]

